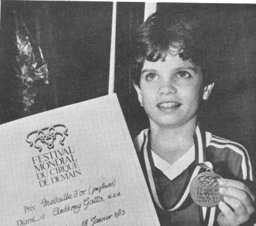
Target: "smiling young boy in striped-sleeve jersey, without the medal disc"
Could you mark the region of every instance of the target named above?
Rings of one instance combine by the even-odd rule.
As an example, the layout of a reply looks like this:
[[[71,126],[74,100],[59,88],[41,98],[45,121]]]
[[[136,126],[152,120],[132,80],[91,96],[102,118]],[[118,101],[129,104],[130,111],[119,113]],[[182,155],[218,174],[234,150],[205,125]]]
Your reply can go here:
[[[204,22],[182,13],[154,13],[136,34],[134,87],[150,128],[134,144],[161,225],[252,225],[246,150],[198,122],[200,104],[214,87],[210,38]],[[189,195],[193,177],[207,167],[223,177],[216,207],[198,206]]]

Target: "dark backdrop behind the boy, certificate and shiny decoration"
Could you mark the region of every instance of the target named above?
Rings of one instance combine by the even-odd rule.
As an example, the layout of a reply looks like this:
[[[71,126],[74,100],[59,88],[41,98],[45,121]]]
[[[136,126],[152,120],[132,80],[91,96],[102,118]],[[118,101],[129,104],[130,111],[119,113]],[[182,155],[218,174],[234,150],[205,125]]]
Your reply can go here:
[[[148,125],[131,80],[130,44],[144,6],[117,3],[115,92],[132,137]],[[0,123],[23,117],[12,69],[13,9],[49,63],[49,85],[40,87],[31,114],[108,94],[112,3],[1,1]],[[255,167],[256,5],[158,3],[157,10],[193,11],[211,22],[216,84],[201,121],[215,135],[243,144]]]

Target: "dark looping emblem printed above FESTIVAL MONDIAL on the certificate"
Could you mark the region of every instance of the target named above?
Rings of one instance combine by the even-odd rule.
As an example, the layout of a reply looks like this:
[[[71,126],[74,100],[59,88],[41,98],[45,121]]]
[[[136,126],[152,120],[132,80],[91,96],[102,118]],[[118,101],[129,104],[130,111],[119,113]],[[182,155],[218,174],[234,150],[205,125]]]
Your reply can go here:
[[[48,149],[54,147],[54,141],[57,139],[60,140],[60,144],[64,145],[65,137],[68,136],[68,128],[63,124],[56,124],[51,127],[45,127],[42,130],[36,130],[28,134],[26,142],[32,147],[34,146],[38,149],[39,152],[42,151],[42,144],[46,144]]]

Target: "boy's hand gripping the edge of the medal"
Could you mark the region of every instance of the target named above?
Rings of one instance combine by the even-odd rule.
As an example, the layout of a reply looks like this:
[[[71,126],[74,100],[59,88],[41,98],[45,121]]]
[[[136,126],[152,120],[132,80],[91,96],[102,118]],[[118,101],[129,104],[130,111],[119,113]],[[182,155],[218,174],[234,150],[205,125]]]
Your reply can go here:
[[[217,219],[218,223],[221,226],[237,226],[247,222],[255,211],[255,197],[248,186],[232,179],[220,179],[218,183],[220,193],[224,197],[224,202],[219,204],[221,213]]]

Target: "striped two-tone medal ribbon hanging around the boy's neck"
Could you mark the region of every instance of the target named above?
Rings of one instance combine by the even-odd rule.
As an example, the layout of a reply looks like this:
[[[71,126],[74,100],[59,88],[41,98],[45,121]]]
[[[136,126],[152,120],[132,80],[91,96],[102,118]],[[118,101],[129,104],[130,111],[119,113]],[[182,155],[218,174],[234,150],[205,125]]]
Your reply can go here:
[[[188,186],[186,187],[184,193],[180,196],[180,199],[177,200],[177,202],[175,202],[175,205],[172,206],[171,209],[167,209],[167,211],[174,211],[174,210],[178,209],[180,206],[182,206],[183,202],[188,197],[189,186],[191,185],[191,181],[193,180],[193,178],[196,175],[198,175],[198,172],[200,171],[200,169],[202,169],[202,168],[212,168],[212,163],[204,162],[205,158],[204,158],[203,142],[202,142],[202,136],[201,136],[201,133],[200,133],[200,129],[199,129],[198,126],[196,126],[196,132],[195,132],[195,135],[194,135],[193,138],[194,138],[194,142],[195,142],[195,161],[196,161],[197,165],[195,167],[195,170],[193,171],[193,174],[191,175],[191,177],[189,179]],[[152,168],[150,166],[150,162],[149,162],[149,158],[148,158],[148,151],[147,151],[148,135],[145,136],[145,139],[146,140],[145,140],[145,145],[143,147],[143,155],[144,155],[144,158],[145,158],[145,165],[146,165],[146,169],[147,169],[148,181],[149,181],[149,184],[150,184],[152,195],[154,197],[154,200],[155,200],[157,206],[159,206],[161,209],[164,209],[163,206],[161,205],[158,197],[157,197],[156,185],[154,183]],[[201,207],[201,208],[202,208],[202,212],[203,212],[203,215],[204,215],[204,219],[207,221],[207,222],[204,222],[204,225],[208,225],[208,226],[213,225],[214,220],[212,220],[212,217],[214,219],[215,208],[216,207],[212,207],[212,208]],[[209,211],[211,211],[211,213]],[[206,217],[205,217],[207,215],[209,216],[209,217],[207,217],[208,219],[206,219]]]

